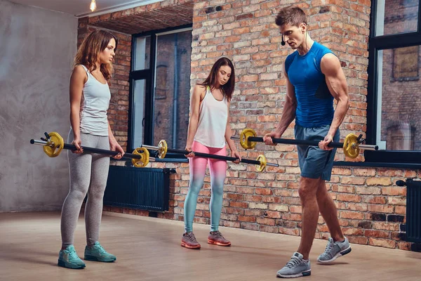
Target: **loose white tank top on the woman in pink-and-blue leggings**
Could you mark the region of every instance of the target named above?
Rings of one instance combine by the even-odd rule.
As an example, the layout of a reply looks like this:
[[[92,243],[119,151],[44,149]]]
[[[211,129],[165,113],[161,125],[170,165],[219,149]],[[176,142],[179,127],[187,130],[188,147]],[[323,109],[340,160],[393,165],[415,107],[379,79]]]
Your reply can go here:
[[[227,97],[216,100],[206,86],[205,97],[199,107],[199,124],[194,141],[209,148],[225,147],[225,129],[227,129],[228,102]]]

